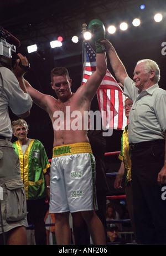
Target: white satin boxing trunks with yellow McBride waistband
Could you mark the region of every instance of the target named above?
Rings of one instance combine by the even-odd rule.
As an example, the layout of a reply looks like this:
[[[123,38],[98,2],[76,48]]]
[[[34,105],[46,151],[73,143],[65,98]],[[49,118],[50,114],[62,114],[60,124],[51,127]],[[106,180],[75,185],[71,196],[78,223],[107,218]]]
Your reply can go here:
[[[89,143],[54,147],[50,213],[96,210],[95,157]]]

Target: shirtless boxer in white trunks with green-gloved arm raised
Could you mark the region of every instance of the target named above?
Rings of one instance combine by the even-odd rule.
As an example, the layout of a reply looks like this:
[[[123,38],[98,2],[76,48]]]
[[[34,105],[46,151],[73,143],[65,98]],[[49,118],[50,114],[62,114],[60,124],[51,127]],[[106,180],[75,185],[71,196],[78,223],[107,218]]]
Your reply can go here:
[[[92,20],[89,29],[94,32],[96,42],[96,71],[85,85],[71,92],[71,79],[68,70],[57,67],[51,71],[51,87],[58,100],[45,95],[25,81],[27,91],[33,102],[45,110],[54,129],[54,149],[51,161],[50,212],[55,213],[55,235],[58,244],[70,244],[69,213],[73,222],[81,213],[89,227],[94,244],[105,244],[105,233],[100,219],[94,210],[95,159],[92,155],[87,131],[69,129],[66,120],[67,111],[79,111],[81,123],[84,124],[84,111],[90,111],[93,99],[103,77],[106,74],[106,55],[100,41],[105,38],[105,27],[98,19]],[[58,112],[59,111],[59,112]],[[64,126],[55,125],[58,114],[64,114]],[[73,121],[70,117],[70,124]],[[61,129],[60,129],[61,128]],[[73,160],[74,159],[74,160]],[[72,161],[73,160],[73,161]],[[79,224],[78,224],[79,225]],[[81,230],[80,230],[81,232]]]

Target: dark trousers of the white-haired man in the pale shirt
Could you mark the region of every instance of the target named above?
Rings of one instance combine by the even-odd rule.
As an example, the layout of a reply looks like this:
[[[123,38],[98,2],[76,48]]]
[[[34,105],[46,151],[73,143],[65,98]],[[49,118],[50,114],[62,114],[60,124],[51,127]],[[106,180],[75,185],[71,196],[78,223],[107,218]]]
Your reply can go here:
[[[131,150],[133,210],[138,243],[166,244],[166,201],[157,182],[164,165],[165,141]],[[163,188],[164,189],[164,188]]]

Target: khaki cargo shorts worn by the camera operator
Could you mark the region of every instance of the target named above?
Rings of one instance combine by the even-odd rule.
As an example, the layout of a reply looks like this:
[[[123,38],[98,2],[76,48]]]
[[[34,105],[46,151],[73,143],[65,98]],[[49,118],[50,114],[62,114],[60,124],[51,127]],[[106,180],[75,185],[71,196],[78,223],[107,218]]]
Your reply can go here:
[[[0,140],[1,211],[4,232],[27,227],[27,207],[24,184],[20,178],[19,158],[7,140]],[[0,222],[0,234],[2,223]]]

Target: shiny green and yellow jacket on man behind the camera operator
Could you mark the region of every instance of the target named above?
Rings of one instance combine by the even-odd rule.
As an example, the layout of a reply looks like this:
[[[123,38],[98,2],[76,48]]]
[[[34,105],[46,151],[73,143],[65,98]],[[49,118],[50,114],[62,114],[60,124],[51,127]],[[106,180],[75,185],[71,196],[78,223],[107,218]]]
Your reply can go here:
[[[25,154],[19,141],[13,146],[20,160],[20,175],[27,199],[42,199],[46,196],[44,174],[50,167],[44,146],[39,140],[31,139]]]

